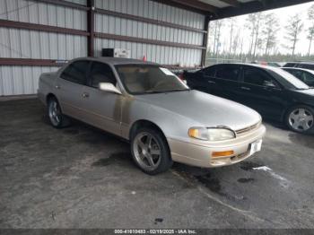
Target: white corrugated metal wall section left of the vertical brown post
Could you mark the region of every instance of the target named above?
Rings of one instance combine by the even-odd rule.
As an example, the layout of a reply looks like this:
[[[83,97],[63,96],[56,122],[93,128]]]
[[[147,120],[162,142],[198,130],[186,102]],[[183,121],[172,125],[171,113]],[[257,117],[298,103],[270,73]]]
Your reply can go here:
[[[85,0],[73,0],[86,4]],[[27,0],[0,0],[0,19],[86,30],[86,12]],[[86,57],[83,36],[36,30],[0,28],[0,57],[72,59]],[[56,71],[50,66],[0,66],[0,95],[34,94],[39,75]]]

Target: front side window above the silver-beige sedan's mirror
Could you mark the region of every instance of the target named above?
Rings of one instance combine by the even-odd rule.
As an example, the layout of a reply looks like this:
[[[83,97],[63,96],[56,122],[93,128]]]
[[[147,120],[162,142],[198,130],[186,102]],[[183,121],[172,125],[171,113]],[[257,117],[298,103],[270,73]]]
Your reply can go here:
[[[92,62],[90,79],[91,86],[95,88],[99,88],[100,83],[112,83],[114,86],[117,84],[115,75],[109,65],[100,62]]]

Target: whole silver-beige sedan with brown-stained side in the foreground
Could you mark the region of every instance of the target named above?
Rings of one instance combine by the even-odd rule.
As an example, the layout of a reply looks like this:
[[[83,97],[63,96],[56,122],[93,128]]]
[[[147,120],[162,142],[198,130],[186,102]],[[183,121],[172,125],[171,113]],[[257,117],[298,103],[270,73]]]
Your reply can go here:
[[[41,74],[38,94],[52,126],[74,117],[123,137],[148,174],[172,161],[206,168],[243,161],[260,151],[266,132],[256,111],[191,91],[161,65],[134,59],[75,59]]]

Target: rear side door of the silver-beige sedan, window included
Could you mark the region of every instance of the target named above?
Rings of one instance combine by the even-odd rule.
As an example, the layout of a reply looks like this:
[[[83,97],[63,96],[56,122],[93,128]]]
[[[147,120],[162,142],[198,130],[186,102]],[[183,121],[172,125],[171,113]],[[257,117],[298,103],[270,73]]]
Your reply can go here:
[[[56,83],[57,98],[62,111],[69,116],[82,119],[82,94],[90,62],[74,61],[59,75]]]

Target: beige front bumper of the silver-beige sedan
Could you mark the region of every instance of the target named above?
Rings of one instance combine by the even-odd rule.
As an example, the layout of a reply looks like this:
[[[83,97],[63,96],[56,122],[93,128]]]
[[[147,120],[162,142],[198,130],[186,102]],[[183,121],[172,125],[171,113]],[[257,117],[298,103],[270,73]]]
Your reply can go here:
[[[173,161],[204,168],[214,168],[231,165],[243,161],[249,156],[250,145],[261,140],[266,133],[266,127],[261,125],[237,138],[217,143],[208,143],[191,139],[190,142],[168,138]],[[231,156],[212,157],[213,152],[233,151]]]

